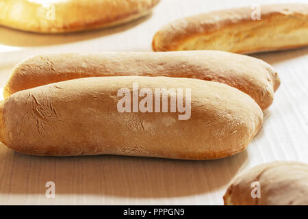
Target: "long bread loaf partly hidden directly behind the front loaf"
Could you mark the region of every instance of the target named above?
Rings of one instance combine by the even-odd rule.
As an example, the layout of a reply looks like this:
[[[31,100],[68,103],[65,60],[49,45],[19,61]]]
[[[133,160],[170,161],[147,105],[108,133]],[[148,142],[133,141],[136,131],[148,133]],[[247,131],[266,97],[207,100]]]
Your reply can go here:
[[[48,83],[99,76],[188,77],[227,83],[255,99],[262,110],[273,101],[280,79],[266,62],[222,51],[38,55],[18,64],[4,97]]]

